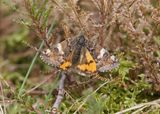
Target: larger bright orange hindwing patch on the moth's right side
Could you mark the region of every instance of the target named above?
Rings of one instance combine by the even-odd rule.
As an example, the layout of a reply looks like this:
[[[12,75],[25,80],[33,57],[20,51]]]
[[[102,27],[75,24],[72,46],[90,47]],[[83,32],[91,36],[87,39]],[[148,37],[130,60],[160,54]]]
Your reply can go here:
[[[93,57],[91,56],[91,54],[88,50],[86,50],[85,56],[86,56],[86,59],[87,59],[87,63],[80,64],[77,67],[81,71],[95,72],[97,70],[96,62],[94,61]]]

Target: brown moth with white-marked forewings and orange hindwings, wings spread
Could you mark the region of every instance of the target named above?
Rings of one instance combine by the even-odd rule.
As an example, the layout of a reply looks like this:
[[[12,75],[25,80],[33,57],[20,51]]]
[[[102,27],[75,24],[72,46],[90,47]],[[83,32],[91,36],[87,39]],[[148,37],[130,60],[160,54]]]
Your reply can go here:
[[[84,34],[51,46],[41,53],[40,58],[60,70],[83,75],[107,72],[118,66],[115,56]]]

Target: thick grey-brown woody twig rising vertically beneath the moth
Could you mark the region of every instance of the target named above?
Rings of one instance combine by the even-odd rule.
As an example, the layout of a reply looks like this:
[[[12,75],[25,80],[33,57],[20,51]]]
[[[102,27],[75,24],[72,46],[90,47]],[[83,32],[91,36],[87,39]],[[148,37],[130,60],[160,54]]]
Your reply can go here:
[[[59,105],[62,102],[62,99],[64,97],[64,81],[65,81],[66,75],[62,72],[61,73],[61,79],[59,81],[59,89],[58,89],[58,95],[56,98],[56,101],[54,102],[53,106],[52,106],[52,111],[51,114],[56,114],[57,113],[57,109],[59,107]]]

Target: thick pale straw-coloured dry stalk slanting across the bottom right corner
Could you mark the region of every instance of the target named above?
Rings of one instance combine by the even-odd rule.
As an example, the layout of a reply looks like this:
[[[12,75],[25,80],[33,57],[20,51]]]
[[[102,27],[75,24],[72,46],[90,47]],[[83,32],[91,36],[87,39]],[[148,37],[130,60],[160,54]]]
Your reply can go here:
[[[124,113],[126,113],[126,112],[128,112],[128,111],[135,110],[135,109],[139,109],[139,108],[144,107],[144,106],[146,106],[146,105],[149,105],[149,106],[150,106],[150,105],[155,105],[155,104],[157,104],[157,103],[160,103],[160,99],[157,99],[157,100],[154,100],[154,101],[151,101],[151,102],[148,102],[148,103],[141,103],[141,104],[138,104],[138,105],[136,105],[136,106],[127,108],[127,109],[125,109],[125,110],[116,112],[115,114],[124,114]]]

